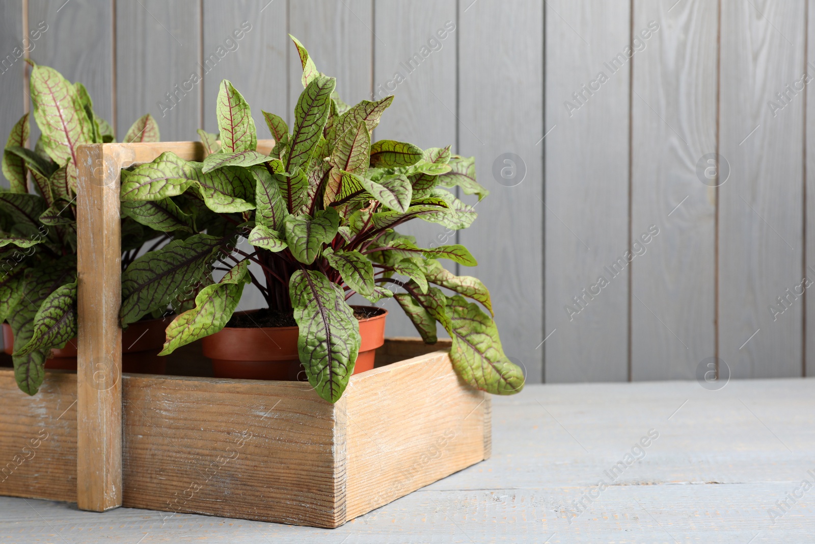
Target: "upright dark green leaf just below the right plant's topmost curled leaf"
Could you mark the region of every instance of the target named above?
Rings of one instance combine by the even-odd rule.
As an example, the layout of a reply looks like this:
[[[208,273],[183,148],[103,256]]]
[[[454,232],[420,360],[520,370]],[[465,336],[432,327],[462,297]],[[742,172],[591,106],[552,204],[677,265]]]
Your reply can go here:
[[[331,108],[331,93],[337,80],[318,75],[302,91],[294,109],[294,127],[289,155],[286,157],[286,171],[292,172],[297,166],[306,166]]]

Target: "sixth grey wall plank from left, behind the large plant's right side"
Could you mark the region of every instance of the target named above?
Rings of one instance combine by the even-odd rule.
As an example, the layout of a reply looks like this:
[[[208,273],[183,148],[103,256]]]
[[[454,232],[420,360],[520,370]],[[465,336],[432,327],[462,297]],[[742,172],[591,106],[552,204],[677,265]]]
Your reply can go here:
[[[374,98],[394,95],[394,102],[385,110],[374,139],[411,142],[423,149],[452,145],[453,153],[458,153],[456,120],[447,110],[456,111],[456,0],[379,1],[375,28],[383,42],[374,38]],[[437,32],[444,39],[439,39]],[[397,84],[401,78],[404,81]],[[370,96],[364,98],[371,100]],[[455,243],[455,232],[446,234],[446,230],[421,219],[399,228],[399,232],[415,236],[420,247]],[[447,242],[446,237],[450,237]],[[390,311],[388,336],[416,335],[399,303],[385,299],[381,306]],[[441,327],[438,331],[447,336]]]

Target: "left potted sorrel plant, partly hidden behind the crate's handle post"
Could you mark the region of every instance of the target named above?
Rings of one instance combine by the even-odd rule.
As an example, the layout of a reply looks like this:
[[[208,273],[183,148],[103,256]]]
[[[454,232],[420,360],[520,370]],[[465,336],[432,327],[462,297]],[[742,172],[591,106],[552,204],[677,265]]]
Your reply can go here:
[[[33,64],[33,63],[32,63]],[[45,369],[77,368],[77,147],[114,141],[112,127],[96,115],[81,83],[55,69],[33,64],[30,78],[34,119],[42,135],[33,149],[29,113],[11,130],[2,156],[10,187],[0,192],[0,321],[3,349],[12,355],[17,385],[37,392]],[[125,142],[158,141],[147,115],[127,131]],[[30,180],[30,183],[29,183]],[[192,232],[172,203],[122,206],[123,265],[149,241],[173,232]],[[169,321],[169,320],[168,320]],[[154,331],[147,333],[148,329]],[[125,331],[124,364],[129,371],[161,371],[163,360],[145,351],[161,348],[163,325],[146,321]]]

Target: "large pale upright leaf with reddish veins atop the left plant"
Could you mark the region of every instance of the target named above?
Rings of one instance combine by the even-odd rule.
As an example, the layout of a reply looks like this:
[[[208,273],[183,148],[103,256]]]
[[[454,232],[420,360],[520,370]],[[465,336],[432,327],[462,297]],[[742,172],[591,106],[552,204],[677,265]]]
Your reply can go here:
[[[55,69],[34,66],[31,70],[34,118],[42,130],[42,148],[60,166],[77,164],[77,147],[92,144],[94,126],[88,119],[75,86]]]

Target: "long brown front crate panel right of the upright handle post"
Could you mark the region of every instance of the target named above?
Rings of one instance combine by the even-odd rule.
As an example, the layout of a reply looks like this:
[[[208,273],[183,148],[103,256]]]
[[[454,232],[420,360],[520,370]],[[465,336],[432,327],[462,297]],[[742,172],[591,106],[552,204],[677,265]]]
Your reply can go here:
[[[307,383],[126,375],[123,385],[124,506],[344,522],[334,450],[345,446],[333,405]]]

